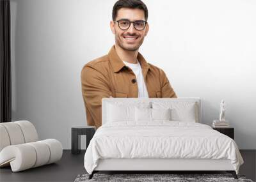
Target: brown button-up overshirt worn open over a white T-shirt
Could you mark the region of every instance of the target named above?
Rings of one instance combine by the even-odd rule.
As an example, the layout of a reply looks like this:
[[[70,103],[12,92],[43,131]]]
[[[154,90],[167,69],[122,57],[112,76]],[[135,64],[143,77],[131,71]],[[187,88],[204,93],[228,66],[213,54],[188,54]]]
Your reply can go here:
[[[138,52],[138,61],[147,86],[149,98],[177,98],[164,71],[147,63]],[[115,45],[109,53],[85,64],[81,84],[87,124],[101,126],[102,98],[138,98],[136,76],[118,57]]]

